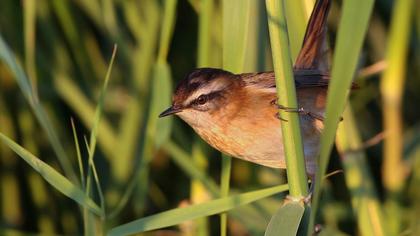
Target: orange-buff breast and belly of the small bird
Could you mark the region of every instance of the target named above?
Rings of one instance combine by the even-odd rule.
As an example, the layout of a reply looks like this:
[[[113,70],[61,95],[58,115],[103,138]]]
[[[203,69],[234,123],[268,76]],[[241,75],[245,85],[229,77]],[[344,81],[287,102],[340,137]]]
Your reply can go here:
[[[242,109],[194,128],[211,146],[228,155],[273,168],[285,168],[280,122],[273,109]]]

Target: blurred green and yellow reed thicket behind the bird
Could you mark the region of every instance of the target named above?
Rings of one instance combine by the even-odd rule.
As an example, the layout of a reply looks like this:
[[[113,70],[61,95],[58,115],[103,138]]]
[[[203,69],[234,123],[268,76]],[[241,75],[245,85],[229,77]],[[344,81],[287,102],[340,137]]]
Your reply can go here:
[[[291,12],[289,27],[304,24],[311,11],[308,6],[313,4],[311,0],[296,2],[307,7],[300,9],[306,15],[298,18]],[[392,17],[394,1],[375,2],[359,60],[360,70],[356,73],[360,89],[351,95],[352,124],[356,127],[350,130],[356,130],[352,137],[358,140],[358,149],[350,145],[347,149],[354,150],[345,154],[346,145],[339,145],[339,152],[333,152],[329,172],[344,169],[344,174],[328,177],[324,186],[317,223],[325,234],[363,232],[359,228],[363,216],[355,212],[369,206],[358,205],[357,196],[349,190],[357,185],[357,178],[361,178],[359,182],[369,182],[368,190],[374,195],[373,201],[379,202],[387,225],[402,235],[420,234],[420,4],[412,2],[409,22],[398,22]],[[247,4],[243,72],[272,70],[264,1],[250,0]],[[342,1],[333,1],[330,12],[332,49],[341,4]],[[101,205],[107,214],[102,221],[87,216],[74,201],[52,188],[0,143],[1,235],[102,234],[128,221],[218,196],[221,154],[203,143],[180,119],[158,120],[157,115],[169,106],[177,81],[193,68],[222,67],[222,5],[216,0],[1,1],[0,35],[8,46],[2,43],[0,47],[0,132],[75,185],[84,186],[79,177],[70,121],[73,118],[84,177],[90,172],[85,138],[90,140],[89,145],[97,141],[94,162],[101,190],[93,187],[91,195],[98,205],[104,203]],[[396,170],[402,172],[402,177],[395,177],[400,186],[394,195],[392,187],[391,191],[387,188],[387,179],[398,173],[384,167],[384,150],[389,149],[381,141],[387,135],[382,132],[388,110],[383,103],[385,89],[381,93],[381,79],[386,77],[383,72],[391,47],[391,24],[403,24],[401,28],[408,30],[407,53],[398,59],[405,70],[405,74],[398,74],[405,79],[402,120],[398,123],[402,127],[402,159],[398,165],[403,170]],[[291,37],[295,55],[294,48],[301,39]],[[404,44],[398,39],[391,42]],[[114,44],[118,51],[101,100]],[[26,76],[16,74],[19,70],[5,63],[7,48]],[[92,127],[98,124],[98,103],[102,104],[103,113],[97,138],[91,139]],[[347,134],[352,131],[347,130]],[[361,157],[353,157],[354,153]],[[363,173],[354,177],[358,173],[352,168],[363,168]],[[283,170],[233,160],[231,192],[285,182]],[[279,194],[236,207],[229,213],[229,233],[262,235],[283,198],[284,194]],[[397,220],[389,220],[394,216]],[[219,218],[212,216],[150,235],[218,235],[218,227]]]

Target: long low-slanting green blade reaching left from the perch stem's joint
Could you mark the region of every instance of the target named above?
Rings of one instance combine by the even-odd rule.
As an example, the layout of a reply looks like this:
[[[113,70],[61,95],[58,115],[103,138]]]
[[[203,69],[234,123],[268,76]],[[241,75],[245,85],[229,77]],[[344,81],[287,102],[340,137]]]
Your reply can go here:
[[[224,197],[206,203],[184,208],[177,208],[156,215],[144,217],[130,223],[117,226],[109,231],[109,235],[129,235],[164,228],[181,222],[210,216],[228,211],[238,206],[248,204],[273,194],[286,191],[287,185],[266,188],[248,193]]]

